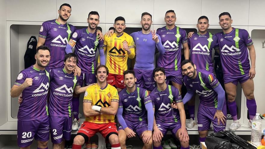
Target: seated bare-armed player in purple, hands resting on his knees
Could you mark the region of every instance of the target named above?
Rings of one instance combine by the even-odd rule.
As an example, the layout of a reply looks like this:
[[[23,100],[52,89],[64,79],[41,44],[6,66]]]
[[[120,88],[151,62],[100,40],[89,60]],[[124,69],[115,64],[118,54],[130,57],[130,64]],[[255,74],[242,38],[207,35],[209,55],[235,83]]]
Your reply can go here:
[[[170,130],[181,144],[181,149],[189,149],[189,135],[186,130],[186,115],[179,90],[165,82],[164,68],[153,70],[157,87],[150,93],[149,98],[155,111],[153,142],[154,149],[162,149],[161,140]],[[148,99],[146,99],[148,100]],[[178,110],[172,106],[176,102]]]

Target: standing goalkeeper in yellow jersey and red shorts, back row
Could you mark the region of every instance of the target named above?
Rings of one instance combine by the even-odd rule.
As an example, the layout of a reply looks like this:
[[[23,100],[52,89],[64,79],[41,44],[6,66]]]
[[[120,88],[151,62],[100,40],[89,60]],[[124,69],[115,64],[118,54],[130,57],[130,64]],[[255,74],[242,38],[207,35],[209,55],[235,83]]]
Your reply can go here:
[[[133,59],[135,56],[134,42],[132,36],[124,33],[126,28],[125,19],[117,17],[113,25],[115,33],[104,38],[104,52],[107,51],[106,66],[109,69],[107,82],[110,85],[115,85],[118,92],[125,88],[123,82],[123,71],[127,70],[127,59]],[[98,59],[100,62],[100,59]]]

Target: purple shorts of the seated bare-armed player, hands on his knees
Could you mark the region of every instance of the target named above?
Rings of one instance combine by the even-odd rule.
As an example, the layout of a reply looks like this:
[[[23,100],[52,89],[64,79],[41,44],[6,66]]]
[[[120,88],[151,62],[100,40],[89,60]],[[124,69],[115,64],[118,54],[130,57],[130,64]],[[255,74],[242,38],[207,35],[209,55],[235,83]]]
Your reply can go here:
[[[167,134],[167,131],[170,130],[172,134],[175,134],[174,136],[176,137],[177,131],[181,128],[181,123],[164,123],[156,120],[156,125],[158,129],[163,133],[163,136]]]

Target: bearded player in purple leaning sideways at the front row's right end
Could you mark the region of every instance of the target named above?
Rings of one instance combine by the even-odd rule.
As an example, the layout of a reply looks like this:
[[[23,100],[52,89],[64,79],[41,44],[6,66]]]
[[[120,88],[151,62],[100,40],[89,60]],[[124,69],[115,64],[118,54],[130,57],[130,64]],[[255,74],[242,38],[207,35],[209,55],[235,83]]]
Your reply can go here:
[[[214,132],[226,129],[225,91],[213,73],[196,70],[196,65],[192,61],[182,61],[181,67],[186,75],[183,80],[188,90],[183,98],[183,103],[188,102],[195,92],[199,95],[198,131],[200,142],[204,142],[211,122],[213,122]]]

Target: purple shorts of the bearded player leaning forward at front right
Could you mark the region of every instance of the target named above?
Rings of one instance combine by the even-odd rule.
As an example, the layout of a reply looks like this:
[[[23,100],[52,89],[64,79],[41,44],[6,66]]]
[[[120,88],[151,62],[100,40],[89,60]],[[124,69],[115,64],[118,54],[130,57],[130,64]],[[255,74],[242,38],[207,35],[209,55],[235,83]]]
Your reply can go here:
[[[214,132],[220,132],[226,129],[226,123],[223,125],[220,121],[220,125],[218,125],[217,118],[214,119],[216,110],[217,108],[204,107],[202,104],[199,104],[197,114],[198,131],[209,130],[211,122],[213,122]],[[223,105],[222,112],[226,116],[226,102]]]

